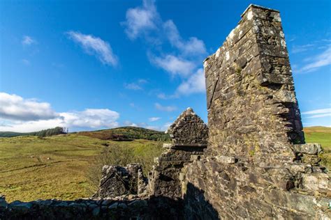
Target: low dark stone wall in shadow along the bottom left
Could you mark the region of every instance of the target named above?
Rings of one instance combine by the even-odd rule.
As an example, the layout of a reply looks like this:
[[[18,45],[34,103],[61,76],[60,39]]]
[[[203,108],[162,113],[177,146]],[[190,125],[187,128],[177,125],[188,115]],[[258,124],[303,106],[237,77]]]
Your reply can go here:
[[[182,203],[163,197],[14,201],[0,198],[0,219],[182,219]]]

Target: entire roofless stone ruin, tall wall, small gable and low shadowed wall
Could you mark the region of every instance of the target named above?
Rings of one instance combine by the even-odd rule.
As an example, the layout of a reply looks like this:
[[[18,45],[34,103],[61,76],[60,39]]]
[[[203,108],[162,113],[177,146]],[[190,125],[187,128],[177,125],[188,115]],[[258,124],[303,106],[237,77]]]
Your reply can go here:
[[[184,111],[148,184],[138,165],[104,166],[94,200],[0,198],[0,219],[330,219],[330,177],[321,146],[304,143],[279,11],[250,5],[204,70],[208,128]]]

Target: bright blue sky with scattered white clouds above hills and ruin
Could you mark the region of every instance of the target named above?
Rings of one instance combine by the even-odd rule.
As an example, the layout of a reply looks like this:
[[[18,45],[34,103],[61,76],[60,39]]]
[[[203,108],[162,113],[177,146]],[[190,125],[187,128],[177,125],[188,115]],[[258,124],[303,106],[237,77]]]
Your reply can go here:
[[[207,122],[202,62],[249,3],[281,11],[304,126],[331,126],[330,1],[1,1],[0,131]]]

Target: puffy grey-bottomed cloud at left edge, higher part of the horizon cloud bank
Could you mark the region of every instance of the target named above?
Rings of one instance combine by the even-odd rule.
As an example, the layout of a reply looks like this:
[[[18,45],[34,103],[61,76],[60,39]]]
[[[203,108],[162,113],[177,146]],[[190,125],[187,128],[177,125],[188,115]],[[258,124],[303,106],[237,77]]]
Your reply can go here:
[[[0,93],[0,118],[10,120],[42,120],[57,118],[47,102],[24,99],[19,95]]]

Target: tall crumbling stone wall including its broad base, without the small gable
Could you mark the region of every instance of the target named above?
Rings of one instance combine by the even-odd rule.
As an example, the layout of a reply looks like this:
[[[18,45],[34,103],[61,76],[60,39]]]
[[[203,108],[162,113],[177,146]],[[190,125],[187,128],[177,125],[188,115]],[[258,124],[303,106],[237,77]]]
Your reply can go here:
[[[304,144],[279,12],[249,6],[204,68],[209,141],[184,168],[186,218],[330,217],[330,181],[320,147]]]

